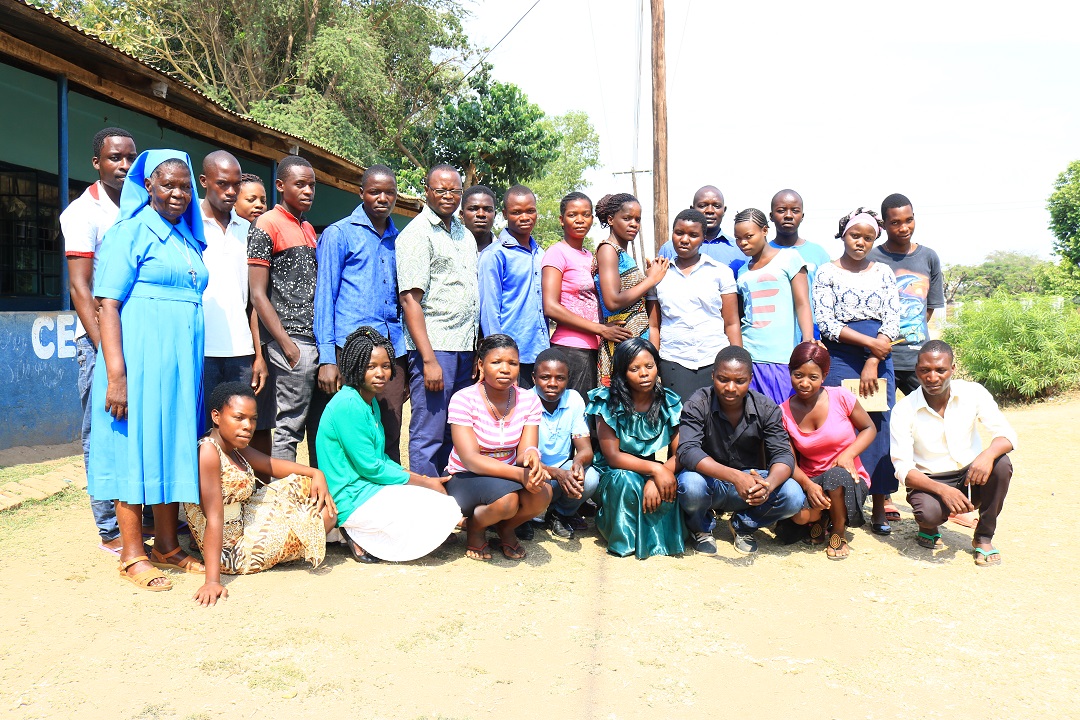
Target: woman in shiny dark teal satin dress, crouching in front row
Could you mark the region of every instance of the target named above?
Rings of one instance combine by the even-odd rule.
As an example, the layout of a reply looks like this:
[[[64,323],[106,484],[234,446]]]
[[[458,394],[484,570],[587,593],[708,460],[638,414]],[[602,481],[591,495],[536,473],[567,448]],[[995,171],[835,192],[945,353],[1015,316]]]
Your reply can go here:
[[[644,338],[621,342],[611,364],[611,386],[589,393],[600,452],[596,529],[608,553],[639,559],[683,553],[686,528],[678,510],[675,449],[683,404],[660,384],[660,355]],[[656,453],[667,448],[667,461]]]

